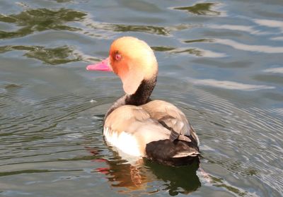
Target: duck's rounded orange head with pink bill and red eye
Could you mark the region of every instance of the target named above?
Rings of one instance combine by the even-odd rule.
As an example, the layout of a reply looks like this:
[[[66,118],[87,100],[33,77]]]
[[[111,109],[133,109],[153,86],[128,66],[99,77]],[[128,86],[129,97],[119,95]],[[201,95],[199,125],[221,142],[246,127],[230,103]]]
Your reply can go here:
[[[158,64],[154,52],[146,42],[135,37],[120,37],[112,42],[109,56],[88,71],[113,71],[123,83],[128,95],[134,94],[142,80],[156,78]]]

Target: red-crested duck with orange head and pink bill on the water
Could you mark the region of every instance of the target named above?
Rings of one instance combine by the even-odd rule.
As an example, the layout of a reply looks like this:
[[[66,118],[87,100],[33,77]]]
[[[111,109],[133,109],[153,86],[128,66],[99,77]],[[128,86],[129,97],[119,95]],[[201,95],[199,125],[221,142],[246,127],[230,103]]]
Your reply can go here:
[[[158,62],[154,51],[136,37],[120,37],[109,56],[87,71],[112,71],[125,95],[112,104],[103,121],[105,141],[129,157],[162,165],[188,165],[200,157],[200,140],[185,114],[170,102],[151,100]]]

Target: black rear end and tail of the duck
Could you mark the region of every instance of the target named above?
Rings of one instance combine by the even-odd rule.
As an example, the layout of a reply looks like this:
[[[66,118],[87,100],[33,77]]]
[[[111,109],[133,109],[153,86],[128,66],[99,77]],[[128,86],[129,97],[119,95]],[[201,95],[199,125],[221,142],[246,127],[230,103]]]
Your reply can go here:
[[[190,165],[195,160],[199,160],[199,148],[197,142],[193,141],[153,141],[146,145],[146,156],[149,160],[159,162],[164,165]]]

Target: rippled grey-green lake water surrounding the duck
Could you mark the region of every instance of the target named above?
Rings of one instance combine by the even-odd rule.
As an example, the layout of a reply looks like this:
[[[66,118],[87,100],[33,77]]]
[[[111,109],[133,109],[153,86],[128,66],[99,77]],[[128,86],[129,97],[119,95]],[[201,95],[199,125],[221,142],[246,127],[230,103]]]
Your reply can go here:
[[[85,68],[125,35],[154,49],[152,97],[190,119],[200,169],[105,143],[121,82]],[[2,0],[0,39],[0,196],[282,196],[282,0]]]

